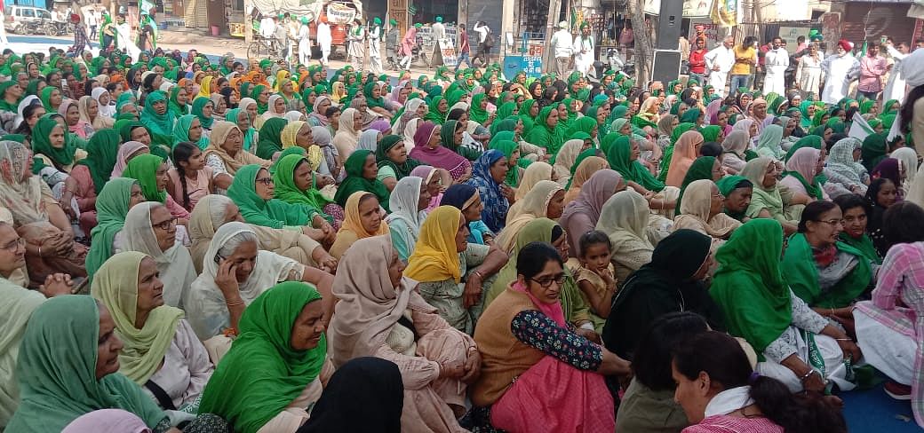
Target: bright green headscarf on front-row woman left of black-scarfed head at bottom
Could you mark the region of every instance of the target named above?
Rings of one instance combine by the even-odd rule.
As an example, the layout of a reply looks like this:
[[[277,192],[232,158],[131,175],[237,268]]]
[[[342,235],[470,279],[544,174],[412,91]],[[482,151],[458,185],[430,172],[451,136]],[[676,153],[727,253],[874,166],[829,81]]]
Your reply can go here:
[[[322,333],[316,347],[297,351],[292,327],[305,306],[319,300],[318,291],[301,282],[278,283],[257,297],[202,391],[200,412],[221,416],[235,431],[253,433],[298,398],[321,373],[327,340]]]

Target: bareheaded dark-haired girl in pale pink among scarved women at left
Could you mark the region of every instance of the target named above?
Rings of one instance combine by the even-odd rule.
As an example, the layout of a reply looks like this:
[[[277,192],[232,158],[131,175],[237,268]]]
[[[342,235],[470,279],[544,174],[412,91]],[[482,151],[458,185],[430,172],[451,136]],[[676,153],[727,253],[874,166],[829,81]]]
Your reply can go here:
[[[173,150],[176,165],[167,171],[167,191],[183,206],[192,211],[200,198],[212,194],[212,168],[205,166],[199,146],[181,141]]]

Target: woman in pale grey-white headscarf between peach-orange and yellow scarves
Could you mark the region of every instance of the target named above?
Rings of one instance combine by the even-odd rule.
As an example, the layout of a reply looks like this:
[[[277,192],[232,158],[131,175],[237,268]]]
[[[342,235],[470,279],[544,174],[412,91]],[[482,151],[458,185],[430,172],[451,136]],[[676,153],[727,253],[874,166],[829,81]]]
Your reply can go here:
[[[414,251],[420,235],[420,225],[427,218],[430,191],[417,176],[407,176],[397,182],[391,195],[392,213],[385,217],[392,245],[402,262]]]

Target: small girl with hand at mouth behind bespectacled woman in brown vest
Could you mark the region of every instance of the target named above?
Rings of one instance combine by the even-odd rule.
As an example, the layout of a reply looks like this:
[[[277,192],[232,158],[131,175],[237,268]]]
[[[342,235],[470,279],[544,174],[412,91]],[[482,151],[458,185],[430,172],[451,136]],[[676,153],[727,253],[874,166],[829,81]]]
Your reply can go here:
[[[574,270],[577,287],[590,306],[594,330],[600,333],[616,293],[616,279],[610,263],[610,237],[599,230],[591,230],[580,236],[578,247],[580,267]]]

